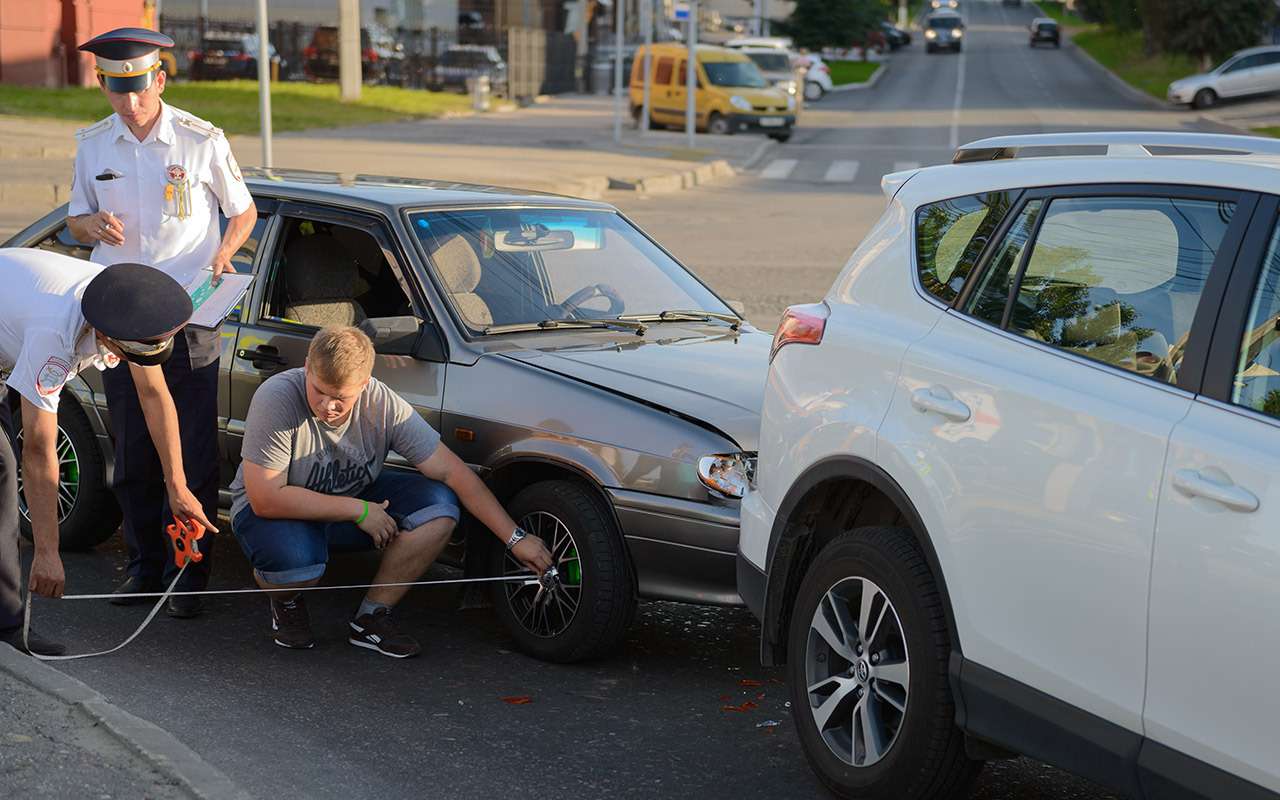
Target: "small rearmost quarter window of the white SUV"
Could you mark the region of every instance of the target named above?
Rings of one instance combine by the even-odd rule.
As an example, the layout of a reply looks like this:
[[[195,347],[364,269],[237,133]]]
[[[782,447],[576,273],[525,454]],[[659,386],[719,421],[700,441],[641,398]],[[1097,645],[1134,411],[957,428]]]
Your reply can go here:
[[[950,303],[1011,202],[1009,192],[956,197],[915,212],[915,266],[920,285]]]

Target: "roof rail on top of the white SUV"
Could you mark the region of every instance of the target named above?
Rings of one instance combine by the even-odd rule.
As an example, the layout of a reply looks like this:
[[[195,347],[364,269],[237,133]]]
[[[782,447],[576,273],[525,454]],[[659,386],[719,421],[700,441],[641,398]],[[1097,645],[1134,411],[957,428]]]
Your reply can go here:
[[[1060,152],[1024,152],[1053,148]],[[1076,152],[1061,152],[1075,150]],[[1108,155],[1280,155],[1280,140],[1226,133],[1183,133],[1171,131],[1101,131],[1097,133],[1032,133],[996,136],[961,145],[952,164],[1000,161],[1004,159]]]

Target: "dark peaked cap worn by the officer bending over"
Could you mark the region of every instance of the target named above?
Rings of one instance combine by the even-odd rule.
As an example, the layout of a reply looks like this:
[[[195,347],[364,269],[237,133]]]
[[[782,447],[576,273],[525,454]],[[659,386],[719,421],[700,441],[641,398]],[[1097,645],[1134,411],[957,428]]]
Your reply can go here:
[[[84,287],[81,311],[127,361],[155,366],[169,360],[192,305],[182,284],[154,266],[113,264]]]

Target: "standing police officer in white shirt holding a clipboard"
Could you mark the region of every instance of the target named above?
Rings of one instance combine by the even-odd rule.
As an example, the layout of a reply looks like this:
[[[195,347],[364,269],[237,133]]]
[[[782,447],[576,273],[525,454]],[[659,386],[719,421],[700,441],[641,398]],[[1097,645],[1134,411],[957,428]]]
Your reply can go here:
[[[99,83],[115,113],[76,137],[76,174],[68,227],[93,243],[92,261],[154,265],[183,287],[212,268],[216,280],[257,219],[236,156],[223,132],[161,101],[160,47],[173,40],[145,28],[118,28],[81,46],[96,56]],[[219,232],[218,210],[228,218]],[[219,330],[187,329],[165,364],[178,407],[188,486],[205,513],[218,512]],[[129,577],[120,594],[155,591],[175,567],[168,557],[164,483],[129,374],[104,376],[115,435],[114,489],[124,512]],[[182,590],[204,589],[212,548],[183,576]],[[119,600],[128,604],[131,600]],[[202,611],[198,598],[169,602],[174,617]]]

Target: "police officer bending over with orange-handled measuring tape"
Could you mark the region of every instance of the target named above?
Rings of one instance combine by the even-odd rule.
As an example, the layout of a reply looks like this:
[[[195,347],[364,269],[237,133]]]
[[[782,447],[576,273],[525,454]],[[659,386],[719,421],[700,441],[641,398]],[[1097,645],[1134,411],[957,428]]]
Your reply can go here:
[[[28,591],[61,596],[58,554],[58,401],[77,372],[90,367],[131,372],[136,402],[157,443],[164,485],[174,516],[206,527],[210,516],[187,488],[178,412],[161,364],[191,317],[191,297],[178,282],[141,264],[102,268],[44,250],[0,250],[0,641],[22,641],[22,576],[18,558],[18,463],[5,393],[22,407],[23,493],[36,553]],[[128,366],[119,366],[120,360]],[[111,369],[115,367],[115,369]],[[63,646],[32,634],[35,653],[58,655]]]

